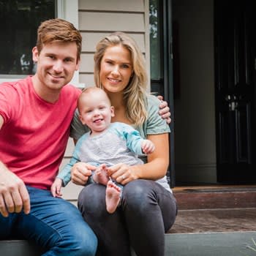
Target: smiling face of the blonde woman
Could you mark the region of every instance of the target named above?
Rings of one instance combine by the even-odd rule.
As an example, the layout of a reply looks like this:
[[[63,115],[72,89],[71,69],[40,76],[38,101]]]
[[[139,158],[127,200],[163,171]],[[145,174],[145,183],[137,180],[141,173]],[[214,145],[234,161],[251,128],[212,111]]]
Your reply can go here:
[[[131,53],[122,45],[105,50],[100,63],[99,79],[107,92],[121,92],[133,73]]]

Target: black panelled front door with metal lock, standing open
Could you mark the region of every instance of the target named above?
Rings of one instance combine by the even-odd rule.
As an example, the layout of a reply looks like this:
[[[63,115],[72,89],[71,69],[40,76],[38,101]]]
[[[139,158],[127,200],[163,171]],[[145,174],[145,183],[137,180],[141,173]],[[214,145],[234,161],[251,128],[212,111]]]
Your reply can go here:
[[[256,182],[256,1],[214,1],[217,180]]]

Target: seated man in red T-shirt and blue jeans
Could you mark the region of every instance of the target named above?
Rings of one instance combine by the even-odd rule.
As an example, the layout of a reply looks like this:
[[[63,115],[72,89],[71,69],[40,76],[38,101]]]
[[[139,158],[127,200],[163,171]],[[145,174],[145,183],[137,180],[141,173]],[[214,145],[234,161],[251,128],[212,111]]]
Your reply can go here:
[[[59,171],[80,90],[68,85],[82,38],[66,20],[43,22],[37,72],[0,85],[0,239],[34,240],[44,255],[95,255],[97,238],[80,211],[50,185]]]

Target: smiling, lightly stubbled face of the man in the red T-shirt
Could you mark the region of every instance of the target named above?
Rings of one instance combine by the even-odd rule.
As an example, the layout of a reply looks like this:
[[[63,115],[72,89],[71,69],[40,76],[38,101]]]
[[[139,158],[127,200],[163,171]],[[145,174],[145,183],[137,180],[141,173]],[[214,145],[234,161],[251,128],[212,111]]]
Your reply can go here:
[[[37,87],[42,90],[60,91],[78,70],[78,48],[75,42],[51,42],[43,45],[39,53],[33,48],[33,60],[37,62]]]

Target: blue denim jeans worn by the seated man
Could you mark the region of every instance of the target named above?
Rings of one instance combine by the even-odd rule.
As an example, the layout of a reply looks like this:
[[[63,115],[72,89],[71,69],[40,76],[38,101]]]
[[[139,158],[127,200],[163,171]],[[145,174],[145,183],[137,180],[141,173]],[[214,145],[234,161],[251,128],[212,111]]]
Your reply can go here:
[[[92,256],[97,251],[97,237],[83,220],[78,208],[48,190],[27,187],[30,214],[0,214],[0,239],[10,237],[35,241],[46,248],[45,256]]]

